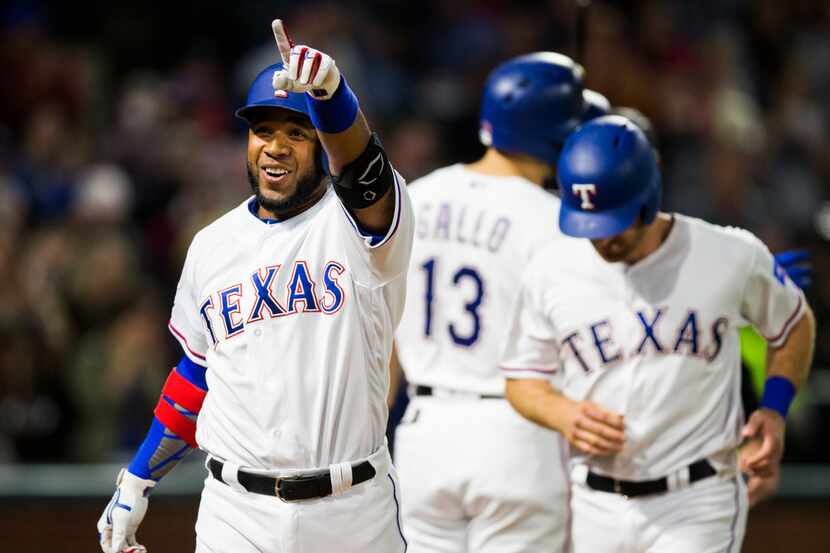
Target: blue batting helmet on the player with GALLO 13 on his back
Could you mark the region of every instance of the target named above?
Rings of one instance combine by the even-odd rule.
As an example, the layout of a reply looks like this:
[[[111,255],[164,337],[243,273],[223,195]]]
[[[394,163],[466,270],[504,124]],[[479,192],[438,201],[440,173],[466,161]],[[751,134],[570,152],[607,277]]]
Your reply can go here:
[[[526,54],[496,67],[484,85],[482,144],[555,164],[568,134],[589,113],[607,112],[589,112],[595,104],[584,95],[583,74],[581,65],[555,52]]]

